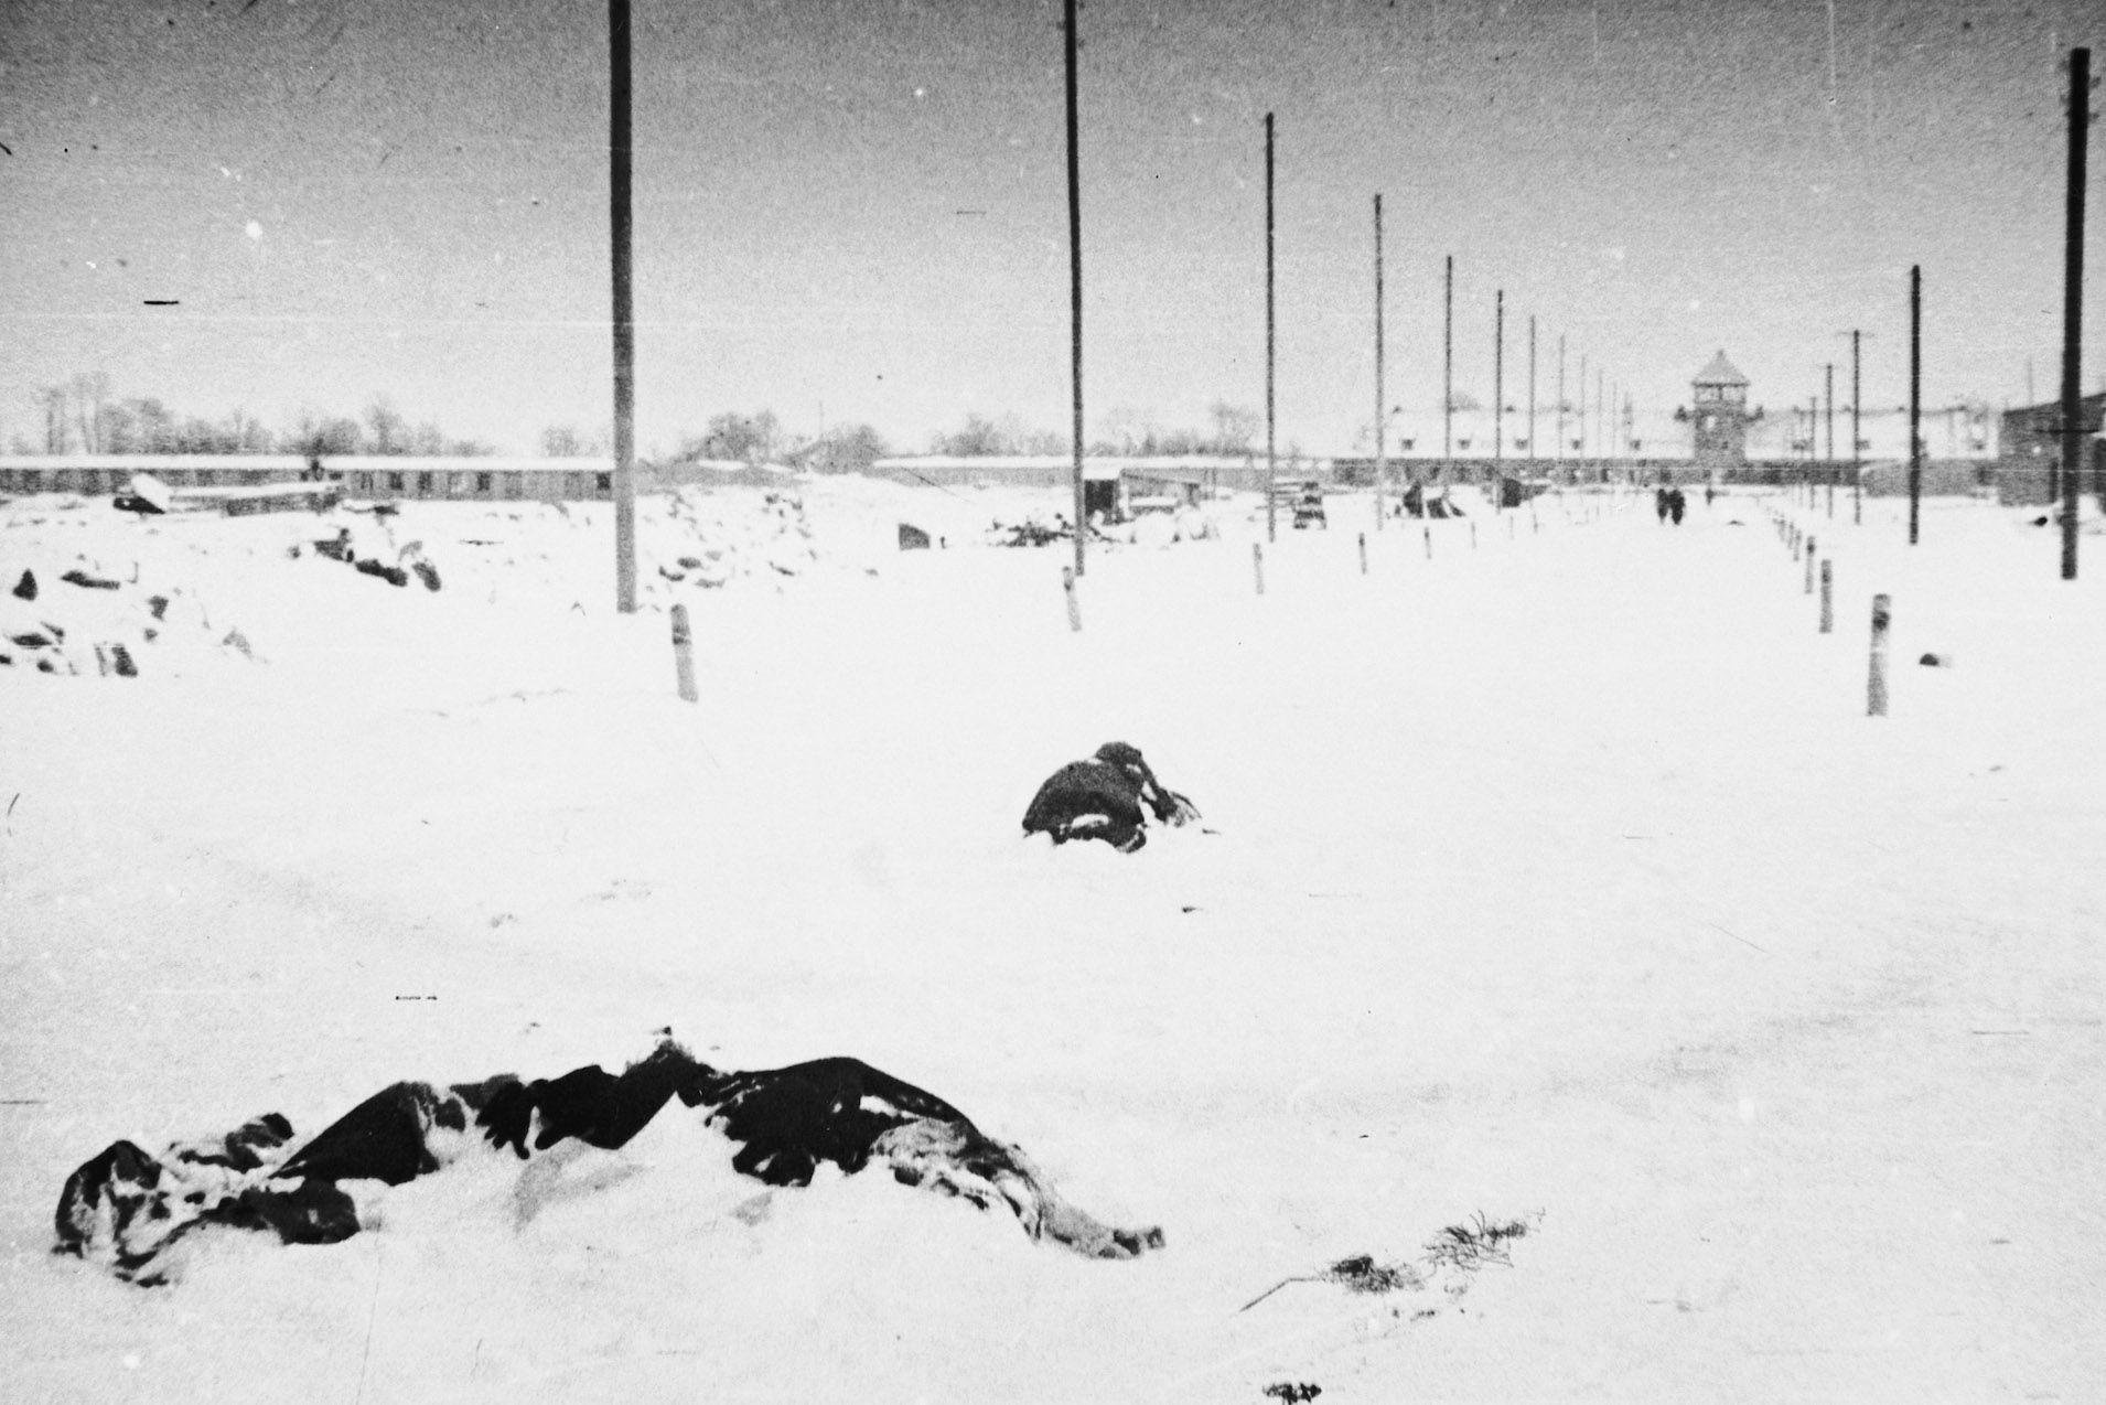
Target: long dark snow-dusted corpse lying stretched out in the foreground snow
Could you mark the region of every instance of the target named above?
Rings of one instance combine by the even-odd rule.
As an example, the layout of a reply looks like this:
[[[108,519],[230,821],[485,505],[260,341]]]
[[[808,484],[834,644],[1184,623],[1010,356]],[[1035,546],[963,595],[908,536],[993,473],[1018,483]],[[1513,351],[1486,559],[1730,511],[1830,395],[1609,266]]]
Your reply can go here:
[[[396,1083],[291,1154],[293,1125],[276,1112],[158,1159],[112,1142],[67,1178],[57,1251],[158,1285],[166,1283],[162,1253],[198,1226],[331,1245],[364,1228],[360,1201],[371,1205],[379,1186],[505,1148],[520,1161],[567,1140],[619,1150],[674,1097],[722,1131],[735,1171],[769,1186],[809,1186],[819,1163],[855,1173],[880,1161],[903,1186],[981,1209],[1007,1205],[1032,1239],[1051,1236],[1078,1253],[1125,1260],[1163,1247],[1163,1230],[1099,1224],[1064,1201],[1021,1148],[870,1064],[830,1057],[720,1072],[668,1036],[619,1076],[594,1064],[533,1083],[514,1074],[449,1087]]]

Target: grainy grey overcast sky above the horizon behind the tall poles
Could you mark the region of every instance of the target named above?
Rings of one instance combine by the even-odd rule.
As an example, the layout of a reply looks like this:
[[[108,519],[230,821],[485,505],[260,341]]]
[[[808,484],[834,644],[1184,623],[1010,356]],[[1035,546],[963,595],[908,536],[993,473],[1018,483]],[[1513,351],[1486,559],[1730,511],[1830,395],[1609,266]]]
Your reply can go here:
[[[903,449],[973,411],[1066,428],[1057,0],[634,11],[642,447],[762,407]],[[2064,63],[2100,29],[2085,0],[1093,0],[1091,430],[1264,407],[1266,112],[1283,447],[1365,442],[1377,192],[1415,413],[1445,255],[1487,402],[1506,289],[1510,400],[1533,314],[1546,404],[1558,337],[1569,394],[1584,354],[1641,415],[1721,348],[1759,402],[1826,360],[1847,402],[1851,326],[1898,404],[1910,263],[1927,402],[2022,400],[2028,358],[2053,396]],[[508,451],[609,421],[604,4],[0,0],[0,436],[97,369],[272,428],[381,392]]]

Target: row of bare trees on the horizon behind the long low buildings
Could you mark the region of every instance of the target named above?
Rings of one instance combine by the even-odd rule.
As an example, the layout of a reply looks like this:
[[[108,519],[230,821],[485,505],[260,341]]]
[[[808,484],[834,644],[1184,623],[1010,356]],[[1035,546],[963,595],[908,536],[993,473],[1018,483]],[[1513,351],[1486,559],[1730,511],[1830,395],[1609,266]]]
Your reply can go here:
[[[497,449],[472,438],[449,436],[438,421],[411,423],[385,394],[373,396],[364,413],[329,415],[303,409],[293,423],[270,430],[244,409],[221,419],[183,415],[154,396],[116,396],[110,377],[76,375],[65,385],[38,390],[42,442],[15,434],[17,455],[61,453],[282,453],[301,457],[430,455],[486,457]],[[1207,430],[1160,428],[1150,415],[1112,411],[1089,440],[1101,455],[1247,455],[1264,419],[1228,402],[1209,409]],[[575,426],[548,426],[537,449],[543,457],[609,457],[613,434]],[[1021,415],[971,413],[958,430],[929,438],[929,453],[952,457],[1066,455],[1070,438],[1057,430],[1032,428]],[[815,436],[790,434],[773,411],[722,413],[701,434],[687,434],[674,453],[640,455],[663,463],[731,459],[746,463],[790,463],[813,472],[866,472],[893,453],[868,423],[828,426]]]

